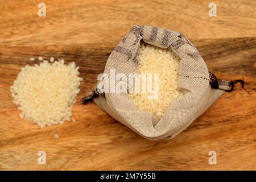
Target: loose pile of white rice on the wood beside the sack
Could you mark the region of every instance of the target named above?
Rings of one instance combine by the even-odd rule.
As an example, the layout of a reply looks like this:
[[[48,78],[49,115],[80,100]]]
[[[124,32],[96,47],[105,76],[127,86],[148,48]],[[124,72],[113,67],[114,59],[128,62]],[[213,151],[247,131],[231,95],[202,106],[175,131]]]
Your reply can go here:
[[[20,117],[40,127],[71,121],[82,81],[74,62],[64,64],[63,59],[50,60],[52,63],[43,60],[40,64],[26,65],[10,88],[14,103],[22,111]]]

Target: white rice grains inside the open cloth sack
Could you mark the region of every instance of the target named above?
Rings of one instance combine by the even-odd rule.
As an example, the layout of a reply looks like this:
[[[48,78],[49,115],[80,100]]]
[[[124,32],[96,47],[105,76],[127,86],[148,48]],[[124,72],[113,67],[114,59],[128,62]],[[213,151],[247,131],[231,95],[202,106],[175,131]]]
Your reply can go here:
[[[148,95],[152,95],[151,93],[130,93],[129,96],[138,109],[153,113],[160,119],[171,102],[183,96],[181,90],[177,88],[179,61],[179,57],[171,50],[141,44],[138,74],[152,73],[152,78],[154,73],[159,74],[159,96],[155,100],[149,100]],[[141,79],[139,84],[141,88]],[[154,88],[154,82],[152,88]]]

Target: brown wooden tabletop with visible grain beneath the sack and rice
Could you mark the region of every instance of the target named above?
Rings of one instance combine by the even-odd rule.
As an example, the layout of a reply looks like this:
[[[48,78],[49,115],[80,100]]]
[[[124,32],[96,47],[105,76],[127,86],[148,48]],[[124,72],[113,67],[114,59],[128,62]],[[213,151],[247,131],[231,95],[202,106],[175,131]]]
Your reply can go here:
[[[1,170],[222,170],[256,169],[255,1],[39,1],[0,2]],[[96,104],[73,107],[76,123],[40,129],[19,118],[10,86],[31,56],[75,61],[84,81],[77,98],[96,84],[113,48],[135,24],[183,32],[218,78],[243,78],[245,89],[224,93],[172,140],[150,141]],[[59,138],[54,135],[58,134]],[[46,152],[46,165],[38,164]],[[208,163],[209,151],[217,164]]]

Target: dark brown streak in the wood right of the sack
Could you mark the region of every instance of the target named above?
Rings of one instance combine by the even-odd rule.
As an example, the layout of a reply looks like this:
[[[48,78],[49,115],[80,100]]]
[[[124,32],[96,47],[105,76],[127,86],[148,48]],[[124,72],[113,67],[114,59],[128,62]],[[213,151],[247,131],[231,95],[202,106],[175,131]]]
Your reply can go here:
[[[210,71],[256,77],[256,38],[195,41]]]

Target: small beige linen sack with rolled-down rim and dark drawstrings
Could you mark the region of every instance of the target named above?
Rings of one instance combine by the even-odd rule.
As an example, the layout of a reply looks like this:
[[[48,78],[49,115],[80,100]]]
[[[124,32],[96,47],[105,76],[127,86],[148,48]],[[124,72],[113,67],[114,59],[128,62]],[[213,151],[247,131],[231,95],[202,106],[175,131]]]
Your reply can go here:
[[[105,97],[95,97],[99,93],[94,89],[84,101],[93,97],[101,109],[144,138],[171,139],[203,114],[224,90],[228,90],[229,81],[217,80],[208,72],[200,53],[183,34],[151,26],[131,28],[109,56],[104,73],[110,75],[112,68],[116,74],[136,73],[141,40],[164,49],[172,49],[180,57],[178,86],[184,96],[168,106],[160,121],[154,114],[138,110],[128,94],[106,93]]]

